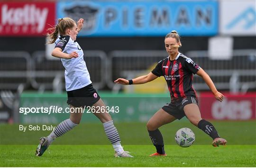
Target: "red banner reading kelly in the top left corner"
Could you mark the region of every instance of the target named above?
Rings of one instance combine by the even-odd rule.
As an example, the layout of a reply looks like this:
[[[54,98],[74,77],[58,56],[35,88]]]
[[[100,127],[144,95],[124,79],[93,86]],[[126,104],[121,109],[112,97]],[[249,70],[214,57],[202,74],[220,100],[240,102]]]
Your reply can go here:
[[[1,2],[0,36],[43,36],[55,25],[55,6],[53,1]]]

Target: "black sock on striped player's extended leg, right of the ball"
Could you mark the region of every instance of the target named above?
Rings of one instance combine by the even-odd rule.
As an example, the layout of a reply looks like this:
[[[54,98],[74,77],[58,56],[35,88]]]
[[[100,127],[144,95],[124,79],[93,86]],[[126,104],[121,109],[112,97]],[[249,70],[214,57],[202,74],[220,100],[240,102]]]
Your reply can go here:
[[[209,122],[204,119],[198,122],[198,128],[200,128],[203,132],[210,135],[210,137],[214,140],[215,138],[219,138],[219,134],[215,127]]]

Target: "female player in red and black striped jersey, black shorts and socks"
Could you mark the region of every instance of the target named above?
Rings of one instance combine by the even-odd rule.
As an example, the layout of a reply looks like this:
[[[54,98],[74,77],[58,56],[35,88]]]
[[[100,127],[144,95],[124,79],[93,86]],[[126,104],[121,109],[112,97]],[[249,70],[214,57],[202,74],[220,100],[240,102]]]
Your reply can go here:
[[[132,80],[119,78],[115,81],[116,84],[145,84],[155,80],[157,77],[165,77],[171,95],[171,102],[167,103],[162,109],[159,109],[146,124],[151,141],[156,148],[156,153],[150,156],[166,155],[164,140],[158,128],[184,116],[193,125],[210,135],[213,139],[213,146],[225,145],[227,143],[225,139],[219,137],[217,130],[209,121],[201,118],[197,95],[192,88],[193,74],[203,78],[217,100],[223,101],[224,96],[217,91],[210,76],[201,67],[195,64],[192,59],[179,52],[178,48],[181,45],[179,35],[176,31],[172,31],[165,36],[165,49],[169,57],[158,62],[152,72]]]

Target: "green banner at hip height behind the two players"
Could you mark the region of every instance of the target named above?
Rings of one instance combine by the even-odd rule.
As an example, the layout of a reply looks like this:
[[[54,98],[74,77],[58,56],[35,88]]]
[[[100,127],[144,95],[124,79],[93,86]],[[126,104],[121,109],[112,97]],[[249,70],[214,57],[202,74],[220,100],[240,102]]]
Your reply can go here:
[[[169,94],[112,94],[102,93],[101,99],[106,104],[106,112],[118,122],[146,122],[156,111],[170,102]],[[67,105],[66,93],[23,93],[20,97],[20,123],[60,123],[75,112]],[[98,122],[92,113],[104,109],[85,108],[81,122]]]

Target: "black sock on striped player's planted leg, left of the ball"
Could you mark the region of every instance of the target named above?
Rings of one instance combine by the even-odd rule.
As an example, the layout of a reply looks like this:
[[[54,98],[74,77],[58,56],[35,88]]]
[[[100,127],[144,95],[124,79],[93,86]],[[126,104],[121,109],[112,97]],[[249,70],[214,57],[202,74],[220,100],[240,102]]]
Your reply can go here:
[[[165,146],[164,146],[164,140],[163,140],[163,136],[161,134],[161,132],[159,131],[159,129],[156,129],[155,131],[149,131],[147,130],[149,133],[149,137],[152,141],[152,143],[154,144],[155,148],[156,148],[156,152],[159,154],[165,154]]]

